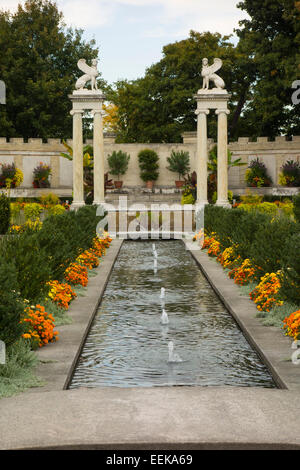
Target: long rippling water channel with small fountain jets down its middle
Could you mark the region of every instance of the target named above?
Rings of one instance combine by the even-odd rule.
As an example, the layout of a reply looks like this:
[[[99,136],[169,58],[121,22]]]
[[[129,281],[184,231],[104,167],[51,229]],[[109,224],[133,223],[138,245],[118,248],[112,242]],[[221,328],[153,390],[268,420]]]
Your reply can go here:
[[[70,388],[275,388],[181,241],[124,242]],[[162,325],[161,288],[169,324]],[[182,362],[169,362],[168,343]]]

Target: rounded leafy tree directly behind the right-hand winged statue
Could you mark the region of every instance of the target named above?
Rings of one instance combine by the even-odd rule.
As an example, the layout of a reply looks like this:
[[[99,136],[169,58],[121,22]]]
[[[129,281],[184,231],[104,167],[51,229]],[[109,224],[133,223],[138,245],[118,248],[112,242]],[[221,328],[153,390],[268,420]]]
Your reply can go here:
[[[232,93],[230,133],[249,98],[253,80],[247,57],[230,42],[230,36],[190,32],[188,39],[163,48],[163,58],[146,70],[144,78],[120,81],[110,99],[118,107],[119,142],[181,142],[181,134],[196,130],[193,95],[202,87],[202,59],[223,60],[222,77]],[[211,113],[209,132],[216,136]]]

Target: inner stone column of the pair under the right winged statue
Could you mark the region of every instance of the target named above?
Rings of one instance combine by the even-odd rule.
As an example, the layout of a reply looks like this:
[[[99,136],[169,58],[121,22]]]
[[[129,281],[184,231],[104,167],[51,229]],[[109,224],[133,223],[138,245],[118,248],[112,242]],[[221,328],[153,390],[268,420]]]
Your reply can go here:
[[[208,109],[197,109],[197,204],[207,201],[207,116]]]

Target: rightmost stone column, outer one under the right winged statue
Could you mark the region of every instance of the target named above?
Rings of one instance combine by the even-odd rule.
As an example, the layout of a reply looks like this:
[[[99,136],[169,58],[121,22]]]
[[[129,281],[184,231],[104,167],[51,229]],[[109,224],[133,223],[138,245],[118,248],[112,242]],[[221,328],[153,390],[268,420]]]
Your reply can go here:
[[[228,201],[228,109],[217,109],[218,115],[218,206],[230,207]]]

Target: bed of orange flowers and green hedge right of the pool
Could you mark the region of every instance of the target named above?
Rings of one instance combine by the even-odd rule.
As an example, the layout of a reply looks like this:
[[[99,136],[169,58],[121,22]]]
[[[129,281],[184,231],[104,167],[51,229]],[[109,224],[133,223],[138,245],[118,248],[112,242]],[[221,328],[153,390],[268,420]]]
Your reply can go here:
[[[259,316],[265,317],[269,312],[279,315],[280,308],[289,315],[299,305],[300,273],[295,261],[299,225],[284,215],[274,218],[272,214],[211,206],[205,210],[207,232],[202,249],[228,270],[236,284],[251,284],[249,296],[261,312]],[[298,314],[299,311],[291,313],[284,320],[286,334],[293,338],[299,337]]]

